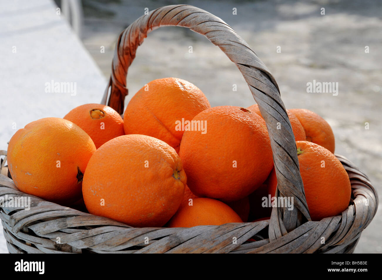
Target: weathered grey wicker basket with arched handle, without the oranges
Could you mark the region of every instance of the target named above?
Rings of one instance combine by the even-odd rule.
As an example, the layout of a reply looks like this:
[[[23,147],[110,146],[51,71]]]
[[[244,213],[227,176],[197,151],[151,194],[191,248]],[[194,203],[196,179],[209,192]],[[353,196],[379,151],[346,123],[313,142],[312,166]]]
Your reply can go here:
[[[193,228],[132,228],[20,192],[2,160],[0,196],[30,197],[31,209],[1,206],[11,253],[351,253],[376,214],[378,199],[367,176],[336,155],[348,172],[352,196],[342,215],[312,222],[299,173],[296,144],[277,83],[248,44],[224,21],[188,5],[172,5],[141,16],[117,42],[112,74],[102,100],[119,113],[127,94],[126,75],[136,49],[160,26],[182,26],[207,37],[236,64],[267,123],[278,187],[293,197],[293,210],[274,207],[270,220]],[[110,95],[108,89],[111,87]],[[108,97],[109,96],[109,97]],[[275,129],[280,122],[282,129]],[[0,155],[5,155],[1,151]],[[8,174],[9,175],[9,174]],[[248,241],[250,238],[256,241]],[[323,242],[324,241],[324,242]]]

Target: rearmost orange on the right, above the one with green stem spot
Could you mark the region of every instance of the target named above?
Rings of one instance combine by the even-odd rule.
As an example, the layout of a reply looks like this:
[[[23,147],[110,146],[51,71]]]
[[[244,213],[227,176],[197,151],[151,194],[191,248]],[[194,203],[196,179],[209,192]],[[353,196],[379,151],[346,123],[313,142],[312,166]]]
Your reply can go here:
[[[304,127],[306,141],[316,143],[334,153],[335,141],[332,128],[322,117],[307,109],[290,109]]]

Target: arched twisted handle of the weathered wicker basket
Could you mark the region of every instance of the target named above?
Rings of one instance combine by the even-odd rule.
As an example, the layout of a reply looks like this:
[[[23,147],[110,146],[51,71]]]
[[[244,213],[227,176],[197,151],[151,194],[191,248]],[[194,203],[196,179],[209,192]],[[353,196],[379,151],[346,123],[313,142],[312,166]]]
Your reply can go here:
[[[123,113],[124,99],[128,94],[127,71],[135,58],[136,49],[149,32],[160,26],[186,27],[204,35],[236,64],[248,83],[267,123],[278,182],[276,194],[293,197],[294,202],[293,210],[287,210],[286,207],[272,209],[270,240],[295,229],[303,222],[303,216],[310,220],[299,172],[295,138],[275,78],[249,45],[222,19],[189,5],[164,6],[141,16],[118,38],[112,74],[102,103],[106,104],[108,89],[111,87],[108,105],[120,114]],[[281,129],[277,129],[278,123],[281,124]]]

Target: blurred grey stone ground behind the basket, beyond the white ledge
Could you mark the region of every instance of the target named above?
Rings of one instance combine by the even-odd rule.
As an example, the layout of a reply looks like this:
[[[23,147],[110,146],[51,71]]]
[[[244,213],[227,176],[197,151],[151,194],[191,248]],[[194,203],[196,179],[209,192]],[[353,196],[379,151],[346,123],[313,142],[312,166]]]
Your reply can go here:
[[[120,32],[145,8],[179,3],[209,11],[235,29],[275,76],[286,108],[307,108],[325,118],[335,134],[336,152],[366,172],[382,193],[382,2],[84,0],[82,40],[105,77],[110,77]],[[105,53],[100,52],[102,45]],[[189,46],[193,53],[188,53]],[[162,27],[148,35],[129,68],[125,104],[144,84],[165,77],[194,83],[211,106],[255,103],[236,66],[206,38],[186,28]],[[313,80],[338,82],[338,95],[307,93],[306,84]],[[379,209],[356,252],[382,252],[381,222]]]

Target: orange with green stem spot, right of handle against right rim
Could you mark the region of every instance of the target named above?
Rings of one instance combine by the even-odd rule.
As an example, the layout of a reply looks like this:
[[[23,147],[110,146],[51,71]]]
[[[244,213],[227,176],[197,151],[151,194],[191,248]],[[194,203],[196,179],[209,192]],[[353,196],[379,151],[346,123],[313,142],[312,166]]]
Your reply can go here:
[[[308,141],[297,141],[298,162],[306,202],[313,221],[340,215],[349,206],[348,173],[329,150]]]

